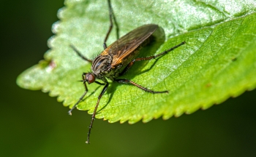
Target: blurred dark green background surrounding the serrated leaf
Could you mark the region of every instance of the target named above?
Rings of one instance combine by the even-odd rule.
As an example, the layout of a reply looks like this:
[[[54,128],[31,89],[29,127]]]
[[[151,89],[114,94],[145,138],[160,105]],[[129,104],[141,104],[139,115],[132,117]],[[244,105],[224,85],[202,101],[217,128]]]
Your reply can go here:
[[[129,125],[97,119],[86,145],[86,111],[68,116],[56,97],[15,83],[43,59],[63,2],[0,2],[1,156],[256,156],[256,90],[167,121]]]

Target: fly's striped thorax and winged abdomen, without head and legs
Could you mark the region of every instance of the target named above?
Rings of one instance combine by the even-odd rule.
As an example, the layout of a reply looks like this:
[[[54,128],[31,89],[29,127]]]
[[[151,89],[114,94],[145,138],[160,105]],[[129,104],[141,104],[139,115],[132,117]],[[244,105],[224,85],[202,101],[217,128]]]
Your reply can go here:
[[[158,28],[157,25],[143,25],[118,39],[96,57],[91,71],[97,79],[108,77],[114,81],[124,68],[138,56],[140,45]],[[127,67],[129,68],[129,66]]]

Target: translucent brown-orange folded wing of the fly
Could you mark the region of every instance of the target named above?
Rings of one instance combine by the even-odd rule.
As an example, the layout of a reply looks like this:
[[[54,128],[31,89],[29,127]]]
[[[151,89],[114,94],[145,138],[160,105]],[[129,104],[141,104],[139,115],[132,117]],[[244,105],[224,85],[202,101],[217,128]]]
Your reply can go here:
[[[118,65],[124,57],[127,57],[127,55],[139,47],[143,41],[148,39],[157,28],[158,25],[154,24],[142,25],[113,42],[101,55],[112,55],[113,60],[111,65]]]

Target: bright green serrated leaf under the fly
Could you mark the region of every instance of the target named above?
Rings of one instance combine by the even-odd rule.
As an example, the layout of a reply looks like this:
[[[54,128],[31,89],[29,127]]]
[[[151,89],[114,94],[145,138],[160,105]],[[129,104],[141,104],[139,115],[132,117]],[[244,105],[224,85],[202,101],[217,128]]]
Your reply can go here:
[[[84,92],[78,80],[83,72],[90,71],[90,64],[69,44],[86,57],[98,55],[103,50],[109,17],[107,1],[67,0],[65,5],[59,10],[60,21],[53,24],[56,36],[48,41],[50,50],[45,60],[21,73],[17,83],[26,89],[50,92],[72,107]],[[100,100],[97,118],[130,124],[142,118],[143,122],[160,116],[167,119],[255,89],[255,1],[112,1],[112,5],[121,36],[148,23],[165,31],[164,43],[159,40],[146,47],[141,56],[159,54],[181,41],[187,44],[157,60],[136,63],[121,76],[148,89],[168,90],[169,94],[110,83]],[[115,40],[114,28],[108,45]],[[102,87],[90,84],[78,109],[92,113]]]

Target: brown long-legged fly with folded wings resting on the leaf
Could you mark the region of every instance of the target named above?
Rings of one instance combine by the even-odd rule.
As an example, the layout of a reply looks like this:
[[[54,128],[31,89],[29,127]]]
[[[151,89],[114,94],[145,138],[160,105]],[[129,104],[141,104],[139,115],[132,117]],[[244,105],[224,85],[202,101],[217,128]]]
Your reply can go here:
[[[137,86],[140,89],[143,89],[146,92],[151,92],[153,94],[157,93],[167,93],[167,91],[161,91],[156,92],[150,89],[146,89],[143,86],[140,86],[139,84],[136,84],[133,81],[130,81],[128,79],[117,79],[118,76],[122,76],[124,73],[126,73],[129,68],[132,67],[132,65],[135,62],[142,61],[142,60],[151,60],[156,57],[160,57],[162,55],[167,54],[167,52],[172,51],[173,49],[176,49],[177,47],[180,47],[181,45],[185,44],[185,41],[181,42],[181,44],[176,45],[175,47],[172,47],[170,49],[165,50],[164,52],[153,55],[150,57],[140,57],[136,58],[138,54],[140,53],[139,49],[145,46],[146,44],[149,44],[152,39],[152,33],[157,30],[158,25],[149,24],[149,25],[142,25],[139,28],[136,28],[133,31],[130,31],[125,36],[122,36],[117,41],[113,42],[113,44],[110,44],[109,47],[106,45],[106,41],[108,40],[108,36],[110,34],[110,31],[113,27],[113,12],[110,6],[110,1],[108,0],[108,8],[110,12],[110,28],[108,30],[107,36],[105,37],[105,41],[103,44],[104,50],[103,52],[97,56],[94,60],[89,60],[83,55],[81,55],[80,52],[78,52],[75,47],[70,45],[74,51],[83,58],[83,60],[88,61],[89,63],[92,63],[91,65],[91,72],[90,73],[83,73],[83,85],[85,87],[85,92],[80,97],[78,102],[75,103],[75,105],[72,107],[71,110],[69,110],[69,115],[71,115],[72,110],[78,105],[78,103],[83,100],[83,97],[88,92],[88,88],[86,86],[86,83],[96,83],[99,85],[104,85],[104,88],[102,89],[102,92],[99,94],[97,104],[94,108],[94,113],[91,116],[91,124],[89,126],[89,132],[86,143],[89,143],[90,140],[90,133],[91,128],[94,123],[94,118],[97,112],[97,108],[99,105],[99,100],[101,99],[102,95],[106,92],[108,89],[108,81],[106,78],[110,79],[111,81],[116,81],[121,84],[132,84],[134,86]],[[102,82],[96,81],[97,79],[102,80]]]

